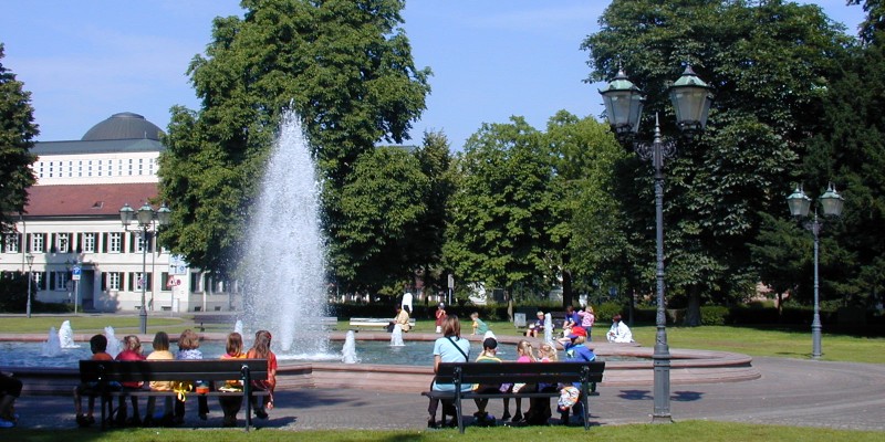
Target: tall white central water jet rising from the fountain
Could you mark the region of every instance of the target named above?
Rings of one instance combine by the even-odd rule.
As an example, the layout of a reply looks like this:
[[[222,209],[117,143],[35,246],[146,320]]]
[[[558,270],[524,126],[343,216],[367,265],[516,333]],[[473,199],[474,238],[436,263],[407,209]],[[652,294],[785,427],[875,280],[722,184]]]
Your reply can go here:
[[[284,354],[327,354],[327,332],[319,320],[327,316],[321,189],[299,118],[285,112],[241,262],[246,327],[270,330]]]

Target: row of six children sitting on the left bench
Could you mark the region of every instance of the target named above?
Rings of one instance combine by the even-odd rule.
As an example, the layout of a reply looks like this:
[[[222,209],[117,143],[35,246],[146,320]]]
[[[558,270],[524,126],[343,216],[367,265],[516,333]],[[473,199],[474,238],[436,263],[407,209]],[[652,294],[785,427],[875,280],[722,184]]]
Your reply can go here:
[[[123,338],[123,351],[112,357],[107,354],[107,338],[104,335],[95,335],[90,339],[90,349],[92,350],[93,360],[187,360],[187,359],[202,359],[202,351],[200,351],[199,336],[191,329],[181,332],[178,337],[178,351],[173,354],[169,350],[169,336],[165,332],[157,332],[154,336],[152,351],[147,357],[143,354],[142,343],[135,335],[128,335]],[[252,381],[252,389],[269,391],[269,396],[263,396],[260,399],[252,397],[252,407],[254,414],[259,419],[267,419],[267,410],[273,409],[273,390],[277,387],[277,356],[270,350],[271,334],[268,330],[259,330],[256,333],[256,340],[248,351],[243,351],[243,340],[239,333],[231,333],[227,337],[226,354],[221,359],[267,359],[268,360],[268,379]],[[76,413],[76,422],[81,427],[88,427],[95,423],[93,412],[95,409],[95,382],[87,382],[77,386],[74,389],[74,411]],[[167,397],[164,413],[160,417],[154,414],[156,408],[156,397],[147,399],[147,409],[144,420],[138,414],[138,398],[129,396],[133,413],[127,418],[128,409],[126,401],[123,397],[119,399],[117,413],[115,417],[118,425],[175,425],[184,422],[185,417],[185,394],[191,391],[207,390],[212,388],[208,382],[194,380],[189,382],[181,381],[150,381],[148,387],[153,391],[175,391],[177,397],[175,404],[173,398]],[[242,391],[242,382],[238,379],[225,381],[223,385],[218,387],[219,391]],[[123,382],[112,383],[110,386],[114,390],[139,390],[144,388],[143,382]],[[83,413],[83,396],[88,397],[87,412]],[[223,411],[223,427],[237,425],[237,413],[242,408],[242,396],[221,396],[218,398],[221,410]],[[209,402],[205,394],[197,394],[198,413],[201,420],[207,420],[209,414]]]

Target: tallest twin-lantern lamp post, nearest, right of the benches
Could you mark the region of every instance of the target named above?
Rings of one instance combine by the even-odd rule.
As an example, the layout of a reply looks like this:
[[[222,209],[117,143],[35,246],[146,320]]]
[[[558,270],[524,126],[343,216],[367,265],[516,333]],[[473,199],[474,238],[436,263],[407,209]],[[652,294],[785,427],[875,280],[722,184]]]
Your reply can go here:
[[[656,291],[657,291],[657,332],[654,360],[654,397],[655,409],[653,423],[673,422],[670,415],[670,351],[667,345],[667,319],[664,308],[664,159],[676,152],[676,143],[665,139],[660,134],[660,124],[655,115],[655,134],[652,143],[637,141],[635,135],[639,129],[645,97],[642,91],[627,78],[623,70],[618,70],[615,78],[600,91],[605,103],[605,113],[612,129],[622,144],[631,145],[636,154],[652,160],[655,168],[655,242],[656,242]],[[691,66],[686,66],[683,75],[670,86],[670,101],[676,110],[676,123],[679,129],[691,137],[704,130],[707,115],[712,103],[711,87],[704,83]]]

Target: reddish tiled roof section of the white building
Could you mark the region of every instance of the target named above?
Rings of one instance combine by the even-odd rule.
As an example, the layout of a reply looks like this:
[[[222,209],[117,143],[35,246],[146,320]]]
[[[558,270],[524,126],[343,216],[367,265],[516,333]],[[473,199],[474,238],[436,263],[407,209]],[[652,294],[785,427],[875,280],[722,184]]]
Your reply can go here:
[[[28,217],[118,215],[128,203],[138,210],[158,194],[156,182],[32,186],[28,189]]]

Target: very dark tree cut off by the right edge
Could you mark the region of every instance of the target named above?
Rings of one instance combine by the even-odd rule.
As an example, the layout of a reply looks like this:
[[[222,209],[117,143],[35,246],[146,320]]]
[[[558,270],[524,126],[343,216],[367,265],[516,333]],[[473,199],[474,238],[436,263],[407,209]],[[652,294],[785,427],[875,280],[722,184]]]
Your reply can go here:
[[[822,259],[823,298],[833,294],[847,305],[872,306],[885,295],[885,39],[879,2],[868,1],[865,43],[841,64],[842,75],[827,87],[821,120],[805,158],[805,189],[820,196],[827,182],[845,197],[839,220],[826,220]]]

